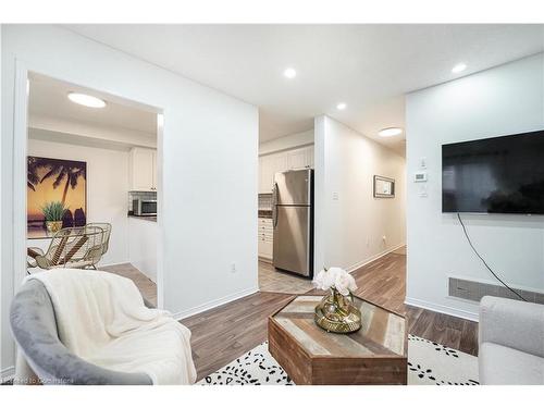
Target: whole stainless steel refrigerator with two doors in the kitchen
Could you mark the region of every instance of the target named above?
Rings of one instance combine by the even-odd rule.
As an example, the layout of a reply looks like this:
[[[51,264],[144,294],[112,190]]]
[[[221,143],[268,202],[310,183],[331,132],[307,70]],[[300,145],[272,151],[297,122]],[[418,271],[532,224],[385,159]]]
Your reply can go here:
[[[275,268],[313,276],[313,170],[274,175],[272,197]]]

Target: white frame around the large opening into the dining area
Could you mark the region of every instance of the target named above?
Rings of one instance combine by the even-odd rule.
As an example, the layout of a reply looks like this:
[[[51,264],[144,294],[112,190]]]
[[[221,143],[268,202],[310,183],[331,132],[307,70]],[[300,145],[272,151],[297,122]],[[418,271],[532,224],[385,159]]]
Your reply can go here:
[[[15,84],[14,84],[14,120],[13,120],[13,294],[15,295],[23,280],[27,276],[26,268],[26,163],[28,154],[28,75],[36,73],[39,75],[49,76],[51,78],[66,82],[76,86],[96,89],[112,98],[123,99],[127,102],[133,102],[135,106],[144,106],[148,110],[152,110],[158,115],[157,121],[157,201],[158,212],[162,214],[163,210],[163,188],[162,188],[162,169],[163,169],[163,127],[164,127],[164,110],[152,103],[141,100],[135,100],[132,97],[115,95],[107,90],[97,89],[92,84],[74,81],[59,76],[58,73],[48,72],[40,66],[15,60]],[[159,120],[160,118],[160,120]],[[157,234],[157,307],[164,307],[164,273],[163,273],[163,217],[158,217],[158,234]]]

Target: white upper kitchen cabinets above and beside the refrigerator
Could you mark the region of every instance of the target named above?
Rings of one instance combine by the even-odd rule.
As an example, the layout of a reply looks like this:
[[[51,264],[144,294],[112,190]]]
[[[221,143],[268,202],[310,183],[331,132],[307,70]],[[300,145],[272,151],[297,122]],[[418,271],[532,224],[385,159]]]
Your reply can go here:
[[[259,157],[259,194],[271,194],[274,174],[294,169],[313,169],[313,145]]]

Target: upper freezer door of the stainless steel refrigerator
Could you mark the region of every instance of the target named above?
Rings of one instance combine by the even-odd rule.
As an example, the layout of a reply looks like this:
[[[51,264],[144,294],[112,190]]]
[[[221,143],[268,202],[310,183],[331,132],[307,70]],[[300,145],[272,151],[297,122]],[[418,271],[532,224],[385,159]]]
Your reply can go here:
[[[311,169],[290,170],[274,175],[274,203],[309,206],[311,203]]]

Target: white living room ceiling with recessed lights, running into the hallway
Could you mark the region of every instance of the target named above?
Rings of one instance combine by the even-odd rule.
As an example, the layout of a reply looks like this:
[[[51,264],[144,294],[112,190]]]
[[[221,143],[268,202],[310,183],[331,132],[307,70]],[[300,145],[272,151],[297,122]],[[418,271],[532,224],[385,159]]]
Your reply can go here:
[[[325,113],[404,151],[404,95],[544,50],[543,25],[67,25],[258,106],[260,140]],[[285,67],[297,70],[288,81]],[[345,111],[337,111],[338,102]]]

